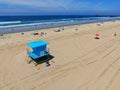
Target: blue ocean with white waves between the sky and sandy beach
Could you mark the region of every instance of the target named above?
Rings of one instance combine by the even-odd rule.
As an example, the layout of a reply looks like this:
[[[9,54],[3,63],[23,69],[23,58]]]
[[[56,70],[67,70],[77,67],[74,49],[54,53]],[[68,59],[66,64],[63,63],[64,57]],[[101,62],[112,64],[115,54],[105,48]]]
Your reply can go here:
[[[0,34],[118,19],[119,16],[0,16]]]

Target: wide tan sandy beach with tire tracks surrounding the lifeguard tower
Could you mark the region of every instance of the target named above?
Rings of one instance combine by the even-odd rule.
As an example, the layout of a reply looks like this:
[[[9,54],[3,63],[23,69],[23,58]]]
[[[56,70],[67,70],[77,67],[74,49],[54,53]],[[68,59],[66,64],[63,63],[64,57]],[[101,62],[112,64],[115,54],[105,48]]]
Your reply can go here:
[[[120,21],[53,30],[0,36],[0,90],[120,90]],[[50,67],[26,62],[26,43],[40,39],[55,57]]]

